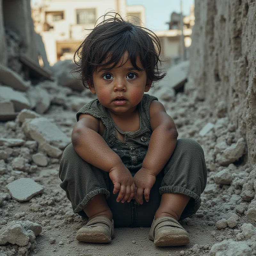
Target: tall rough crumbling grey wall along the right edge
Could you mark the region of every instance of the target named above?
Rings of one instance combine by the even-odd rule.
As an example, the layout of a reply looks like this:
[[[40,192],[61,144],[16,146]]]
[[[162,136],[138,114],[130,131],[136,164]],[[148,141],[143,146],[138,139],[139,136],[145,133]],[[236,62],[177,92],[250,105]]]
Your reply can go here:
[[[190,75],[197,97],[220,101],[256,163],[256,1],[195,0]]]

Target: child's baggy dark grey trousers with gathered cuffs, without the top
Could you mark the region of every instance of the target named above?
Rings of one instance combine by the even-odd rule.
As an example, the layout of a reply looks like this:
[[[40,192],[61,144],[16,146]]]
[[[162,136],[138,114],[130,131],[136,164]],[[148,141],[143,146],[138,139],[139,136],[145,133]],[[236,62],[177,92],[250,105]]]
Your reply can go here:
[[[63,152],[59,177],[62,181],[60,187],[66,191],[75,213],[87,218],[83,209],[94,196],[105,194],[115,227],[150,227],[163,193],[181,193],[191,197],[180,219],[198,210],[200,195],[206,186],[207,169],[201,146],[195,140],[179,139],[171,158],[156,176],[149,202],[144,199],[141,205],[134,200],[117,203],[118,194],[113,194],[114,185],[108,173],[85,162],[72,144]]]

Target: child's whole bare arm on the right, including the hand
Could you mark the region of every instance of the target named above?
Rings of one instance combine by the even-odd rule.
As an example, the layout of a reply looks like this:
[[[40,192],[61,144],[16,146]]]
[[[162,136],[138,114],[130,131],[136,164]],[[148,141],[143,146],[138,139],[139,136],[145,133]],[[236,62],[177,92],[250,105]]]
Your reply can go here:
[[[172,156],[178,137],[176,126],[172,118],[167,115],[162,103],[153,100],[149,107],[149,115],[153,133],[142,168],[133,177],[137,188],[135,199],[139,204],[143,204],[143,194],[148,202],[150,190],[156,182],[156,175]]]

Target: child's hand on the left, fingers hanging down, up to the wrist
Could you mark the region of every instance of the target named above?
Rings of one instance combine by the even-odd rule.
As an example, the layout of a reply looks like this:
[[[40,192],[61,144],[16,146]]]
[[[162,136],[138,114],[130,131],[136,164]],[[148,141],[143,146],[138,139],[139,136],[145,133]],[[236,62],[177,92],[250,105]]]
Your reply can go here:
[[[116,194],[119,191],[116,202],[122,200],[122,203],[125,201],[129,203],[135,194],[135,185],[131,172],[122,163],[110,170],[109,178],[114,184],[113,193]]]

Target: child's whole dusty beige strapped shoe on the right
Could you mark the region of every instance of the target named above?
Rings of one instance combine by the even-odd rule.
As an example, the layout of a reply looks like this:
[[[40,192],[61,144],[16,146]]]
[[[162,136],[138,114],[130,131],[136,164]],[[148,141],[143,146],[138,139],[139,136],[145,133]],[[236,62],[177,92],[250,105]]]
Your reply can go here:
[[[157,246],[179,246],[189,243],[188,232],[172,217],[153,220],[149,239]]]

